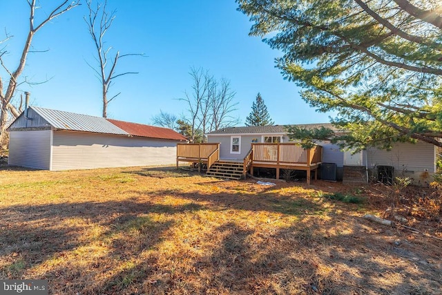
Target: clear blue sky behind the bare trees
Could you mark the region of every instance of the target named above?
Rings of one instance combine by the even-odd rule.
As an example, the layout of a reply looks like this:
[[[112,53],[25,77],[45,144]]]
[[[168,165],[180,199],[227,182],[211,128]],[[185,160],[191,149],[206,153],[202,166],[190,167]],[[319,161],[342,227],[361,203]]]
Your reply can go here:
[[[49,12],[59,1],[41,1],[37,17]],[[108,117],[150,124],[160,113],[186,113],[181,102],[184,91],[191,91],[189,70],[202,67],[218,79],[229,79],[241,124],[251,111],[257,93],[275,124],[328,122],[328,115],[317,113],[300,99],[300,89],[282,79],[274,59],[282,55],[271,50],[258,37],[249,37],[251,23],[236,10],[233,0],[109,0],[116,19],[106,35],[108,45],[120,53],[144,53],[146,57],[121,59],[118,73],[140,72],[115,80],[110,94],[121,92],[108,106]],[[95,51],[83,16],[86,5],[70,10],[42,28],[33,42],[22,77],[31,82],[20,91],[31,93],[31,104],[61,111],[101,115],[101,86],[86,64],[94,64]],[[14,37],[6,44],[3,59],[9,68],[17,66],[19,52],[28,29],[25,0],[0,1],[0,39],[5,31]],[[4,71],[0,71],[5,77]]]

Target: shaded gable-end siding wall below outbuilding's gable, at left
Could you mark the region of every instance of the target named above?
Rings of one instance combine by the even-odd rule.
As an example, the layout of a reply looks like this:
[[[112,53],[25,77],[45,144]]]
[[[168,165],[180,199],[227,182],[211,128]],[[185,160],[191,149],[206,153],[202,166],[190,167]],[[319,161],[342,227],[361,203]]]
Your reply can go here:
[[[9,162],[14,166],[50,169],[51,130],[10,131]]]

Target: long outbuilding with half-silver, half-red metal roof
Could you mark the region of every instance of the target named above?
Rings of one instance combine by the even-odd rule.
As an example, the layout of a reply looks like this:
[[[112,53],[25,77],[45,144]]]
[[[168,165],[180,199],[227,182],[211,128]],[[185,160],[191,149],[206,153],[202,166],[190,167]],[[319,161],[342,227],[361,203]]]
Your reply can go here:
[[[8,128],[9,164],[50,171],[174,164],[171,129],[30,106]]]

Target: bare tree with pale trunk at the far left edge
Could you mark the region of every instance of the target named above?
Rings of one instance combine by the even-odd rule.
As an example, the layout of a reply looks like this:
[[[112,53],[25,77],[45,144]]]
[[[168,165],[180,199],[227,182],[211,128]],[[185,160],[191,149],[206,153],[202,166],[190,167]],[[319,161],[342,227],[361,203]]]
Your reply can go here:
[[[15,91],[17,90],[17,86],[21,84],[19,82],[19,77],[21,73],[23,73],[23,70],[25,68],[26,60],[28,58],[28,53],[30,52],[30,47],[34,35],[50,20],[59,17],[59,15],[64,14],[64,12],[75,8],[76,6],[79,6],[79,1],[61,1],[57,7],[51,10],[47,17],[45,17],[39,23],[35,23],[35,10],[39,7],[36,6],[36,0],[27,0],[27,2],[30,8],[28,37],[26,38],[25,44],[21,50],[20,61],[15,70],[10,70],[10,68],[8,68],[8,66],[6,65],[6,61],[3,59],[6,53],[8,53],[6,47],[0,49],[0,64],[7,73],[6,83],[8,85],[6,88],[6,92],[3,92],[3,77],[0,77],[0,142],[3,142],[3,138],[6,136],[5,129],[9,113],[11,113],[13,117],[18,117],[20,114],[19,111],[17,111],[17,108],[15,108],[15,106],[13,106],[11,102],[12,98],[15,95]],[[6,34],[6,38],[3,39],[0,44],[8,41],[8,39],[10,39],[11,37],[12,36]]]

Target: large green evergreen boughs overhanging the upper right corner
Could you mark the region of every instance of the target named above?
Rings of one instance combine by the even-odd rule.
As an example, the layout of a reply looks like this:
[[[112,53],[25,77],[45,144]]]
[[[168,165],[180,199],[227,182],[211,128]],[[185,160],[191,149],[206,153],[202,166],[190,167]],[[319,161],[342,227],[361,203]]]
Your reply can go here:
[[[302,99],[338,114],[342,140],[442,147],[442,1],[236,1]]]

